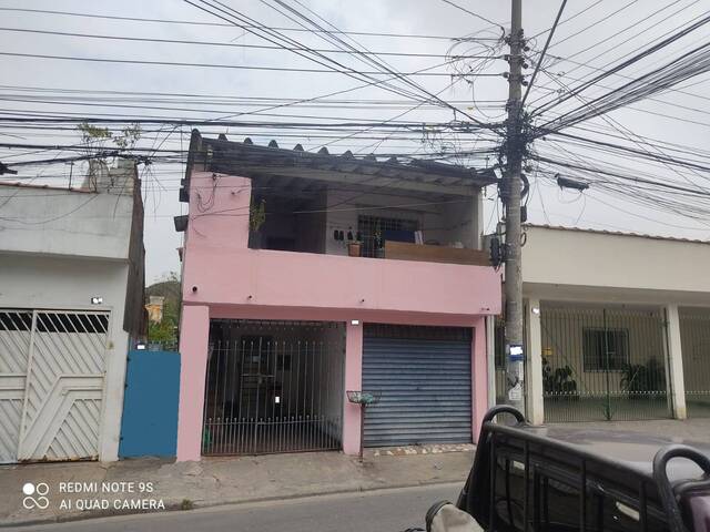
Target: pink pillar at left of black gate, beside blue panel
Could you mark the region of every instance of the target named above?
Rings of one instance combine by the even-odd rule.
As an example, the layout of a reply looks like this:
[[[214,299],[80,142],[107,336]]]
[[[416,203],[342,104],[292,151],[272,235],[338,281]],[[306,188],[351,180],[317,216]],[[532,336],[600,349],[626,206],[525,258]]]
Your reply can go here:
[[[179,462],[201,458],[209,342],[210,308],[183,306],[180,327]]]

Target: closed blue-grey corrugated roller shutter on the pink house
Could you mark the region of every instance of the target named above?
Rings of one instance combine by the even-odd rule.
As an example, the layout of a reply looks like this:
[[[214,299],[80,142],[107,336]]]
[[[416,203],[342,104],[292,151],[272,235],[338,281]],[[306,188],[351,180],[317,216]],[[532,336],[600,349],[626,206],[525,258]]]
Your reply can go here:
[[[471,331],[450,327],[365,327],[365,446],[471,441]]]

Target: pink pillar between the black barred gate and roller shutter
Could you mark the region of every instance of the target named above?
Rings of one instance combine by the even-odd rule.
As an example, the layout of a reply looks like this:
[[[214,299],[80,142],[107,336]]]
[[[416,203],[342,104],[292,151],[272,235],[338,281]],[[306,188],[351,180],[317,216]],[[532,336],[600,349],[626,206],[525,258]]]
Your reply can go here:
[[[359,405],[347,400],[347,390],[363,389],[363,325],[345,327],[345,389],[343,390],[343,452],[359,452]]]

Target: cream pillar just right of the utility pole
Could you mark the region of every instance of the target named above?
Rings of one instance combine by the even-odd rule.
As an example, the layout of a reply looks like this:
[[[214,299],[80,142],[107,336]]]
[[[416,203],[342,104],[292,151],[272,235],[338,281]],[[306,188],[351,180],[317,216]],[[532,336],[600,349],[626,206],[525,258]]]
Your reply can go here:
[[[527,319],[527,418],[532,424],[545,422],[542,400],[542,334],[540,329],[540,300],[530,298],[526,307]]]

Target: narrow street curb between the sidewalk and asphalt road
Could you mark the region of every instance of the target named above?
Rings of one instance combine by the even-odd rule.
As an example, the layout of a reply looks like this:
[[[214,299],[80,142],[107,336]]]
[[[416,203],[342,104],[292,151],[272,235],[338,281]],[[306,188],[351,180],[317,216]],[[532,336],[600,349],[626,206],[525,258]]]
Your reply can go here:
[[[416,483],[404,483],[404,484],[388,484],[388,485],[359,485],[353,489],[343,489],[343,490],[322,490],[322,491],[313,491],[310,493],[300,493],[300,494],[291,494],[291,495],[282,495],[282,497],[257,497],[253,499],[241,499],[235,501],[217,501],[212,503],[197,503],[194,502],[193,508],[191,510],[183,510],[182,503],[173,502],[165,504],[165,510],[148,510],[142,512],[133,512],[133,511],[114,511],[114,510],[99,510],[99,511],[90,511],[83,513],[68,514],[68,515],[52,515],[48,518],[39,518],[39,519],[28,519],[23,521],[14,521],[12,523],[0,523],[0,529],[9,529],[13,526],[32,526],[38,524],[52,524],[52,523],[71,523],[75,521],[88,521],[91,519],[101,519],[101,518],[115,518],[121,515],[148,515],[148,514],[159,514],[159,513],[168,513],[168,512],[190,512],[192,510],[204,510],[209,508],[219,508],[219,507],[240,507],[244,504],[254,504],[260,502],[270,502],[270,501],[294,501],[298,499],[310,499],[315,497],[324,497],[324,495],[342,495],[347,493],[363,493],[369,491],[386,491],[386,490],[400,490],[405,488],[422,488],[425,485],[444,485],[444,484],[458,484],[462,485],[466,481],[466,478],[460,480],[434,480],[434,481],[419,481]]]

